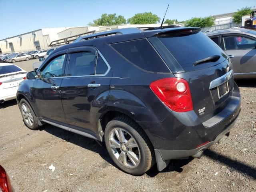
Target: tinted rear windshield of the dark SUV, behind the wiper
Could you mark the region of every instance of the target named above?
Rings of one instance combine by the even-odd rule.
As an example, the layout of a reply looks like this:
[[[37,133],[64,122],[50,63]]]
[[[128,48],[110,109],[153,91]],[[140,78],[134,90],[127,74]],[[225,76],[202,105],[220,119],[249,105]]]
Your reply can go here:
[[[224,51],[202,32],[158,38],[172,53],[184,71],[210,67],[227,58]],[[221,56],[216,63],[208,62],[194,66],[194,62],[214,55]]]

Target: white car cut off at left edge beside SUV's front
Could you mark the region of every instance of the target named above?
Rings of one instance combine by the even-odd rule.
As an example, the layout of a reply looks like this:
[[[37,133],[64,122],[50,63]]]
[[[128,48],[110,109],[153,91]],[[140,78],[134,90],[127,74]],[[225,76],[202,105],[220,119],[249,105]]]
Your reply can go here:
[[[20,82],[26,79],[27,72],[9,63],[0,63],[0,104],[16,98]]]

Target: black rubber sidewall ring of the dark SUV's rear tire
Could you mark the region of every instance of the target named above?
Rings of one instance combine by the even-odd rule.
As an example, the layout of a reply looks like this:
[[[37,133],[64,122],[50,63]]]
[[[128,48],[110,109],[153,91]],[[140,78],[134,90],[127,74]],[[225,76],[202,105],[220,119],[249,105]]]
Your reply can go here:
[[[117,127],[127,130],[134,137],[134,139],[136,140],[136,142],[139,146],[140,164],[136,168],[129,169],[129,168],[122,166],[120,164],[120,162],[118,162],[118,160],[116,159],[114,154],[112,153],[112,150],[109,146],[108,138],[109,138],[109,134],[110,134],[111,130],[114,128],[117,128]],[[128,172],[129,174],[133,174],[133,175],[144,174],[143,170],[145,169],[145,166],[146,166],[146,151],[144,149],[142,142],[140,141],[141,139],[142,139],[142,137],[136,130],[134,130],[130,125],[128,125],[122,121],[112,120],[112,121],[108,122],[106,129],[105,129],[104,140],[105,140],[106,148],[108,150],[110,157],[115,162],[115,164],[118,166],[118,168],[120,168],[121,170],[124,170],[125,172]]]

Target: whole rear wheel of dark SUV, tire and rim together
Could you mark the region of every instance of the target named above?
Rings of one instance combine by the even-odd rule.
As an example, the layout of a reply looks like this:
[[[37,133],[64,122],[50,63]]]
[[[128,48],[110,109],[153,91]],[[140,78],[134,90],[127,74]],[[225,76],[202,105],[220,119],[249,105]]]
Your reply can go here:
[[[119,137],[121,132],[123,139]],[[104,140],[110,157],[124,172],[142,175],[155,164],[154,149],[148,137],[136,122],[126,116],[108,122]]]

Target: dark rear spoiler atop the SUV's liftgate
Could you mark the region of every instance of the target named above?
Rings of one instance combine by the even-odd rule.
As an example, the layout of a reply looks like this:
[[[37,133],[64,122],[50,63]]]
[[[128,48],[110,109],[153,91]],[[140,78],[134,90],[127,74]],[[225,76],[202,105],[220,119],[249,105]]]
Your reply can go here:
[[[178,27],[178,28],[164,29],[160,31],[144,32],[144,34],[146,37],[159,37],[159,36],[198,33],[200,31],[201,31],[200,27]]]

